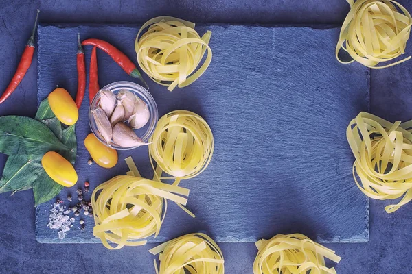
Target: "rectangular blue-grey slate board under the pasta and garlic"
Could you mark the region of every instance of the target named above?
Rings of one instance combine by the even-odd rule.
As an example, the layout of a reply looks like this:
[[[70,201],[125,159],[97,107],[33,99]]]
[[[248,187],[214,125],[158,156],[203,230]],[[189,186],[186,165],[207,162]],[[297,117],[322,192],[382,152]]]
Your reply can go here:
[[[196,219],[172,204],[159,237],[150,241],[164,242],[200,230],[217,242],[255,242],[291,232],[319,242],[367,241],[369,203],[352,182],[353,160],[345,131],[350,120],[368,108],[369,70],[336,62],[333,49],[339,29],[196,27],[201,35],[207,29],[212,32],[214,57],[198,81],[168,92],[146,77],[160,116],[179,109],[196,112],[209,123],[215,139],[207,169],[181,182],[190,188],[187,206]],[[132,45],[137,30],[138,26],[40,26],[38,101],[56,84],[73,97],[76,94],[78,32],[82,39],[112,42],[135,59]],[[87,64],[90,51],[87,47]],[[102,51],[98,67],[101,87],[137,81]],[[123,159],[128,155],[144,177],[152,177],[147,147],[119,152],[119,164],[113,169],[87,165],[89,153],[82,140],[91,132],[88,111],[86,99],[76,124],[78,184],[59,195],[65,200],[70,193],[71,205],[77,203],[76,188],[85,181],[93,190],[125,174]],[[36,209],[39,242],[100,241],[93,237],[93,219],[87,216],[81,216],[86,230],[76,222],[59,240],[57,231],[46,227],[53,202]]]

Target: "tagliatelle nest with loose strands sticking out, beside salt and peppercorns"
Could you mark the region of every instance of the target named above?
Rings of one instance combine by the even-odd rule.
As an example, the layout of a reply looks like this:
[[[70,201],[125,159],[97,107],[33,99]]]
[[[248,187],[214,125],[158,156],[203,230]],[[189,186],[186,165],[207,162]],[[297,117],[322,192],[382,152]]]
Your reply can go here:
[[[108,249],[125,245],[146,245],[149,236],[159,234],[167,210],[167,200],[185,205],[189,190],[144,179],[133,160],[126,160],[128,176],[116,176],[100,184],[91,195],[95,227],[93,235]],[[116,246],[112,246],[113,242]]]

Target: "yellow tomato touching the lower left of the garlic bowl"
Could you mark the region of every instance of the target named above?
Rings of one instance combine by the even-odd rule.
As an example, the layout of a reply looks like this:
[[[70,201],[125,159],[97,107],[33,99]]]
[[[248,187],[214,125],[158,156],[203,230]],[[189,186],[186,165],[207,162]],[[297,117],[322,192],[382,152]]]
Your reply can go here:
[[[84,146],[99,166],[110,169],[117,164],[117,151],[106,147],[93,133],[84,139]]]

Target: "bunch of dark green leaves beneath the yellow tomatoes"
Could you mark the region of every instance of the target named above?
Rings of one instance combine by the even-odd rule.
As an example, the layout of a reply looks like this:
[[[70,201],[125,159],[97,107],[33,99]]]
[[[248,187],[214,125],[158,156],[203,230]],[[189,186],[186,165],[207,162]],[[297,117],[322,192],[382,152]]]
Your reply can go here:
[[[10,120],[0,117],[0,152],[3,152],[3,150],[12,151],[12,149],[3,149],[3,147],[7,144],[16,143],[18,147],[14,151],[34,153],[36,155],[9,156],[5,164],[3,177],[0,180],[0,193],[7,191],[13,191],[14,193],[33,188],[34,206],[38,206],[56,197],[64,188],[47,175],[41,165],[41,158],[45,152],[55,150],[74,165],[77,153],[76,127],[72,125],[63,130],[62,124],[52,112],[47,98],[38,107],[36,113],[36,120],[38,121],[27,117],[10,117],[12,117]],[[14,132],[8,129],[6,136],[9,140],[1,140],[1,134],[5,134],[3,127],[6,128],[1,125],[11,121],[14,122],[14,125],[20,125],[20,127],[18,129],[13,127]],[[30,124],[32,121],[38,127],[37,130]],[[1,132],[2,130],[3,132]],[[39,131],[43,131],[43,135],[38,136]],[[12,137],[10,134],[12,134]],[[25,138],[29,140],[25,140]]]

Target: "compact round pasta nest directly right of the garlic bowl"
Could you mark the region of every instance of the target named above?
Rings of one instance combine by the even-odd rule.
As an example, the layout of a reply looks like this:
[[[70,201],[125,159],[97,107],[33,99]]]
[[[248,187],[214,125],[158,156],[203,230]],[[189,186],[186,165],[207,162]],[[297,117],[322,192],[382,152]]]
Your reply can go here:
[[[185,110],[162,116],[149,142],[150,162],[153,158],[161,170],[179,179],[199,175],[214,151],[209,125],[198,114]],[[155,169],[153,162],[152,167]]]

